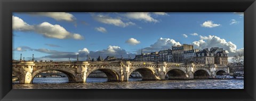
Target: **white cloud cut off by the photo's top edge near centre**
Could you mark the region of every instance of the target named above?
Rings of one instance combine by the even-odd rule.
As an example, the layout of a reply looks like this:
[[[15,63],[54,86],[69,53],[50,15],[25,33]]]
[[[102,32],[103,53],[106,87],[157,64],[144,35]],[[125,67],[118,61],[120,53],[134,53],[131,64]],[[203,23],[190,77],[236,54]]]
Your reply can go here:
[[[159,13],[158,13],[159,14]],[[143,20],[146,22],[158,22],[155,20],[153,17],[150,16],[149,12],[129,12],[126,13],[125,16],[129,19],[134,19],[134,20]]]

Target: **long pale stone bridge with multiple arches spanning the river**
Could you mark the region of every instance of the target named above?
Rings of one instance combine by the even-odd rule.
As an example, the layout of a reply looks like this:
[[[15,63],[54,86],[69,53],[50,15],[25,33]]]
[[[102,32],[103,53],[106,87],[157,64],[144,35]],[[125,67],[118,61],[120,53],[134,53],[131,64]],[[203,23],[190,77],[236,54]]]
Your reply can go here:
[[[144,62],[144,61],[75,61],[75,62],[13,62],[12,74],[18,77],[20,84],[31,84],[41,72],[56,70],[67,75],[69,82],[86,82],[86,78],[95,70],[107,75],[108,81],[128,81],[136,70],[142,80],[194,79],[216,76],[219,72],[229,73],[223,65],[194,65],[193,63]]]

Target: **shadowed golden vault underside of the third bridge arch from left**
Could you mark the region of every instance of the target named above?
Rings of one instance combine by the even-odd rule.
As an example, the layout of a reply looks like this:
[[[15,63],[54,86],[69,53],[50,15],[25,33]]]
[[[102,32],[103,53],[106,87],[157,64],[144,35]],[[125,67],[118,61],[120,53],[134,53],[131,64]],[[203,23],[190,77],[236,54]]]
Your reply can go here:
[[[138,71],[142,76],[142,80],[159,80],[157,77],[157,70],[153,67],[134,67],[130,69],[129,76],[133,71]]]

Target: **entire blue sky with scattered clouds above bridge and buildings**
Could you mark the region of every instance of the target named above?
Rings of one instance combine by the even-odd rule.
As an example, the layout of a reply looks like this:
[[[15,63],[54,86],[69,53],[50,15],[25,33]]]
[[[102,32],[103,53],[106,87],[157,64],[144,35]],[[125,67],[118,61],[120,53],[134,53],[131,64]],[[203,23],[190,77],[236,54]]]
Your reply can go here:
[[[221,47],[232,57],[244,48],[243,13],[13,13],[13,59],[134,58],[172,45]],[[193,35],[192,35],[193,34]]]

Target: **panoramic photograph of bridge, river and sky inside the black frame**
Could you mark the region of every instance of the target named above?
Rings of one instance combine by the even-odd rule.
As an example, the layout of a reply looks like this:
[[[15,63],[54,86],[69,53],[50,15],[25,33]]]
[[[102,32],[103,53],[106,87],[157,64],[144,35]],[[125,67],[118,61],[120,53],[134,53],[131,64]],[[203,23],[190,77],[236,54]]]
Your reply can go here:
[[[14,12],[14,89],[244,89],[243,12]]]

